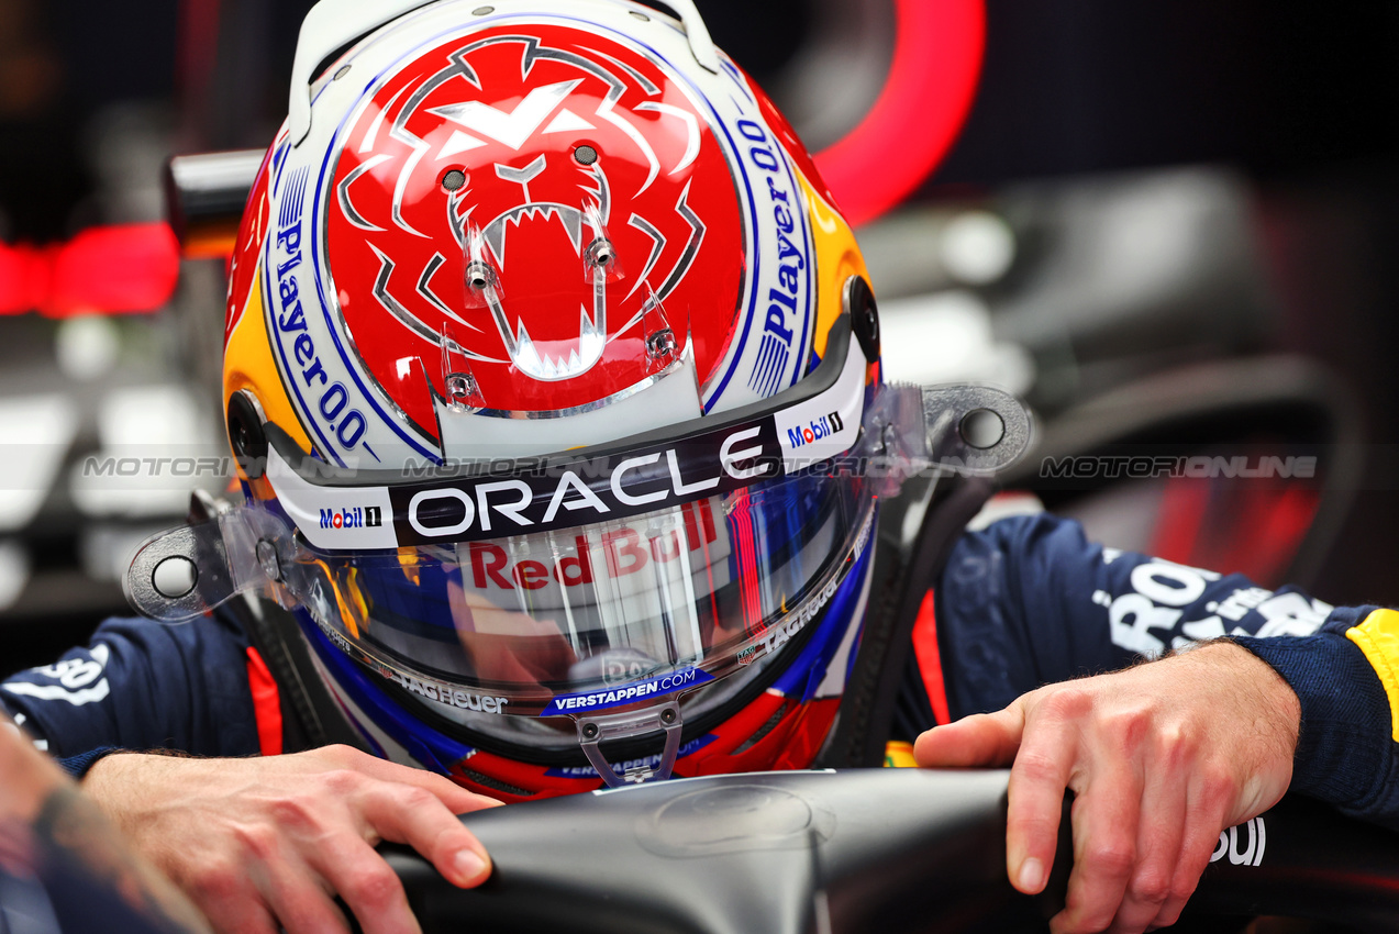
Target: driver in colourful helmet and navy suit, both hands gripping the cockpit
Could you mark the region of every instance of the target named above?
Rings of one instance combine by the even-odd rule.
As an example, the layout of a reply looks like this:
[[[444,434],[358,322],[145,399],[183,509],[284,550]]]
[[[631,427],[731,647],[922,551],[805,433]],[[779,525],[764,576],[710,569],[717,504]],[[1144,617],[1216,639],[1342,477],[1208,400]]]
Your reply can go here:
[[[835,199],[670,6],[683,24],[623,0],[308,18],[229,277],[245,503],[133,565],[133,603],[190,622],[109,621],[0,692],[221,930],[343,930],[332,893],[414,930],[381,839],[473,885],[488,856],[455,814],[830,742],[887,596],[867,466],[926,464],[944,412],[884,385]],[[1056,930],[1171,923],[1220,829],[1287,789],[1304,709],[1336,728],[1302,737],[1302,787],[1392,812],[1379,772],[1318,765],[1386,748],[1336,747],[1372,723],[1312,689],[1350,664],[1385,709],[1382,626],[1379,654],[1336,635],[1354,611],[1046,516],[914,584],[936,598],[891,738],[1016,763],[1027,892],[1079,793]]]

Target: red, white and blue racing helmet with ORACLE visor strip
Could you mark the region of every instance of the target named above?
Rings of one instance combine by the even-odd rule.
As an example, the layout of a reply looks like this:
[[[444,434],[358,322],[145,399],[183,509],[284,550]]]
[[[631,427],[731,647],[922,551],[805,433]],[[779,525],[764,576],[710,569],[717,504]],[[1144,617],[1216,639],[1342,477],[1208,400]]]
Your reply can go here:
[[[810,765],[867,463],[926,440],[811,158],[667,6],[312,10],[231,264],[246,506],[127,577],[277,597],[369,748],[505,800]]]

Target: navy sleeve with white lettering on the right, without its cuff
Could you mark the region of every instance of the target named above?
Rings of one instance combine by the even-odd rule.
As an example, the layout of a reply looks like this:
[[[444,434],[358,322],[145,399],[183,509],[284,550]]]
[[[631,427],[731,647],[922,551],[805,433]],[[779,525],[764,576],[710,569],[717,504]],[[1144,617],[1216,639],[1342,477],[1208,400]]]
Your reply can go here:
[[[964,534],[936,589],[953,717],[1203,639],[1308,636],[1330,611],[1295,587],[1104,548],[1044,513]]]

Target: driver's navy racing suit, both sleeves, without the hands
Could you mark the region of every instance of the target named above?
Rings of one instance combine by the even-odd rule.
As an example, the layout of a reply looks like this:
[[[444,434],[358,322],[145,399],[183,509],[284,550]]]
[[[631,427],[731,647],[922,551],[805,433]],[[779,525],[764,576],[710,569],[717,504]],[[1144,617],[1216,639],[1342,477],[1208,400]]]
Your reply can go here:
[[[1399,826],[1399,777],[1389,777],[1399,614],[1333,608],[1294,587],[1270,591],[1241,575],[1104,548],[1046,515],[965,533],[933,591],[935,611],[919,625],[936,632],[915,631],[915,647],[919,638],[936,645],[940,684],[908,680],[895,734],[912,738],[1044,684],[1234,636],[1301,699],[1293,790]],[[77,773],[109,748],[253,755],[269,749],[255,702],[264,678],[248,636],[222,614],[183,625],[109,619],[87,647],[7,680],[0,706]]]

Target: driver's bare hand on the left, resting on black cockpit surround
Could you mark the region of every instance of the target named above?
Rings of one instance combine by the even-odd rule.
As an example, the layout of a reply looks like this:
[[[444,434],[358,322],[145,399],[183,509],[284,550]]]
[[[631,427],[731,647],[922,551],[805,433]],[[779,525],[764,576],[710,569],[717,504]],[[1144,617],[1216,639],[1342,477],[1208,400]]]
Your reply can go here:
[[[490,857],[455,815],[499,804],[449,779],[351,749],[271,758],[116,754],[83,787],[224,934],[417,933],[403,884],[374,850],[407,843],[463,888]]]

